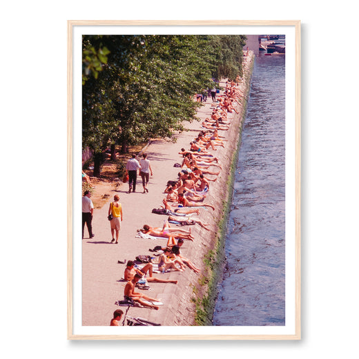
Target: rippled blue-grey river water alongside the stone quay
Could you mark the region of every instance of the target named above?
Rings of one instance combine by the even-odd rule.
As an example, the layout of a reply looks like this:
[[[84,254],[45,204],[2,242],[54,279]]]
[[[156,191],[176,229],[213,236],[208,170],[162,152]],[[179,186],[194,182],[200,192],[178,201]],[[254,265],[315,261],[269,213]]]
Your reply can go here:
[[[285,56],[255,59],[213,325],[285,324]],[[240,173],[239,173],[240,172]]]

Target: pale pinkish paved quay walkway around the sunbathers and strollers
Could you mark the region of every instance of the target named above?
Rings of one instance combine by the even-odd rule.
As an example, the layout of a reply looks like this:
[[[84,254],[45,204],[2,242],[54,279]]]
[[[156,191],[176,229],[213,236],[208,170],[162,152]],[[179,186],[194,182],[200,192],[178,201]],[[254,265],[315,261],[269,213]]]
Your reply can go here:
[[[248,64],[246,64],[248,67]],[[248,70],[248,69],[247,69]],[[220,83],[225,88],[225,82]],[[245,84],[241,84],[244,86]],[[222,95],[222,91],[220,93]],[[211,98],[204,102],[204,106],[198,110],[197,117],[204,119],[211,115],[215,103]],[[239,106],[239,109],[241,106]],[[238,110],[238,109],[237,109]],[[242,112],[236,115],[234,112],[228,114],[232,120],[231,126],[239,126]],[[95,209],[93,215],[93,232],[95,237],[88,238],[85,229],[84,240],[82,240],[82,325],[84,326],[108,326],[116,309],[126,310],[126,307],[115,305],[117,300],[123,300],[126,282],[122,280],[126,264],[120,261],[135,260],[137,255],[153,255],[148,249],[156,245],[165,246],[167,239],[147,240],[135,237],[137,229],[144,224],[162,227],[166,215],[151,213],[153,208],[159,208],[162,199],[166,197],[164,189],[168,180],[177,179],[177,173],[181,168],[174,167],[175,163],[182,163],[180,149],[189,148],[197,133],[202,129],[200,122],[186,123],[188,131],[176,135],[177,142],[166,142],[155,140],[146,148],[145,152],[151,161],[153,176],[148,184],[149,193],[142,193],[142,180],[137,176],[135,193],[128,193],[128,184],[122,184],[119,188],[109,186],[110,195],[108,203],[102,208]],[[146,308],[131,308],[130,316],[139,316],[165,326],[193,325],[195,305],[191,301],[194,297],[193,285],[195,285],[204,269],[203,256],[212,249],[213,238],[217,233],[217,222],[222,214],[222,202],[226,192],[226,181],[229,176],[229,167],[233,152],[237,147],[237,130],[220,131],[220,135],[226,136],[229,142],[225,142],[225,148],[216,146],[217,151],[210,151],[220,159],[222,171],[217,176],[216,182],[211,182],[210,190],[204,200],[212,204],[216,210],[211,208],[200,208],[200,220],[209,223],[211,231],[206,231],[198,224],[191,226],[195,240],[193,242],[184,240],[182,254],[189,258],[196,266],[200,267],[199,274],[187,268],[184,272],[154,273],[155,277],[162,279],[178,280],[177,284],[150,283],[149,290],[137,289],[137,291],[160,299],[164,305],[159,310]],[[216,167],[210,170],[216,171]],[[214,176],[211,176],[214,178]],[[110,242],[110,223],[107,220],[108,206],[114,195],[119,195],[122,203],[124,220],[119,234],[119,244]],[[171,224],[171,226],[174,226]],[[188,229],[188,226],[180,227]],[[77,240],[77,239],[75,239]]]

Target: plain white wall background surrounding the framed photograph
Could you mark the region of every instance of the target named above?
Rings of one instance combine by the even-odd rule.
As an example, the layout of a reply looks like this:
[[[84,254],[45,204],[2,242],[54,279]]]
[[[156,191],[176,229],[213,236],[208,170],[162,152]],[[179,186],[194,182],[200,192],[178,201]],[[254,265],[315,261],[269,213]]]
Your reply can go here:
[[[1,5],[1,349],[5,358],[358,355],[358,46],[352,1],[8,1]],[[69,19],[302,21],[302,340],[66,340]],[[138,349],[141,349],[140,351]]]

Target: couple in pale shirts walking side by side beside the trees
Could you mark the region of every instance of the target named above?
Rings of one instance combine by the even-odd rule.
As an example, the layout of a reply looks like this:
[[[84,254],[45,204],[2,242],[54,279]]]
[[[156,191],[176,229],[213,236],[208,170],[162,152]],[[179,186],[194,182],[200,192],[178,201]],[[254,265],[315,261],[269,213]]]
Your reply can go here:
[[[136,182],[137,182],[137,170],[139,170],[139,175],[142,177],[142,186],[144,187],[143,193],[148,193],[148,181],[153,175],[151,164],[149,159],[147,159],[146,153],[142,155],[142,159],[138,162],[136,155],[132,155],[132,158],[128,160],[126,164],[126,172],[128,173],[128,193],[136,191]]]

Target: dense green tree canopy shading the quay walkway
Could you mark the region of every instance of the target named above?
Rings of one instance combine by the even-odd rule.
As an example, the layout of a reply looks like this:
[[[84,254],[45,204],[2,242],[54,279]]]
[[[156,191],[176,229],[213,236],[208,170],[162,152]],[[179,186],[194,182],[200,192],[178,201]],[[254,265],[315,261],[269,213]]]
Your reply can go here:
[[[195,119],[193,95],[242,71],[242,35],[84,35],[82,146],[95,157],[171,137]],[[95,163],[94,175],[99,175]]]

